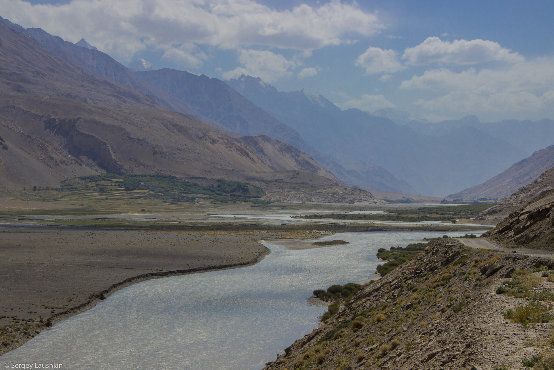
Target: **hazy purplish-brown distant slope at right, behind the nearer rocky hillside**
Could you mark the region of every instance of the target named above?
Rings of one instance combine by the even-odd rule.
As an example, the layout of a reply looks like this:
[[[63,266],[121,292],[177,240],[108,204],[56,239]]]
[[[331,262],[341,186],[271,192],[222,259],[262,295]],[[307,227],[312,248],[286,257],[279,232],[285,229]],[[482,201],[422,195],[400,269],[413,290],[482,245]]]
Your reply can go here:
[[[554,166],[554,145],[535,151],[529,158],[513,164],[503,173],[469,189],[456,194],[450,194],[447,198],[453,199],[504,199],[514,194],[521,186],[531,183],[540,174]],[[507,214],[506,214],[507,215]]]

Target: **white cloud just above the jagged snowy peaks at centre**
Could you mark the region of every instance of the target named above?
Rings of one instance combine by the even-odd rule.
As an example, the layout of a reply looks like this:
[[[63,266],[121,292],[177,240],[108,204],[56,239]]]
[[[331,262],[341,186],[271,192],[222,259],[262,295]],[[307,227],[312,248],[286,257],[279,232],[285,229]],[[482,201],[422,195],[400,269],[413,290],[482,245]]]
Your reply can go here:
[[[266,82],[274,82],[283,77],[290,77],[294,69],[301,65],[296,60],[288,60],[281,54],[274,54],[269,50],[239,50],[239,62],[243,67],[224,72],[223,78],[238,78],[240,75],[260,77]]]

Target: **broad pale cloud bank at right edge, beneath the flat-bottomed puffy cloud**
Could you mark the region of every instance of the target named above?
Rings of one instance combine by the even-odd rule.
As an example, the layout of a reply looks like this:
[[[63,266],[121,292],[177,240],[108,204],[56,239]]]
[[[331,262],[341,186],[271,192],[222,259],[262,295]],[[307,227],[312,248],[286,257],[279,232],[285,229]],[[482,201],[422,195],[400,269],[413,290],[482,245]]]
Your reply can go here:
[[[431,90],[445,95],[413,104],[433,110],[534,111],[554,106],[554,59],[512,65],[507,70],[471,67],[460,73],[428,70],[401,83],[401,89]]]

